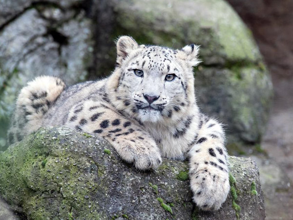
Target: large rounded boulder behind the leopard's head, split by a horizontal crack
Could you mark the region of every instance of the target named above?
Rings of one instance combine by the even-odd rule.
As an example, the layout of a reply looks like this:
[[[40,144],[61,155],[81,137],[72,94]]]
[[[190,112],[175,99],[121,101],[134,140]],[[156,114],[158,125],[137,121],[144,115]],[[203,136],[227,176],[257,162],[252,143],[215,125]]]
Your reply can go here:
[[[127,34],[139,43],[174,48],[201,45],[203,63],[195,68],[198,104],[227,125],[229,143],[260,140],[268,119],[272,83],[251,31],[227,2],[112,2],[116,16],[113,37]]]

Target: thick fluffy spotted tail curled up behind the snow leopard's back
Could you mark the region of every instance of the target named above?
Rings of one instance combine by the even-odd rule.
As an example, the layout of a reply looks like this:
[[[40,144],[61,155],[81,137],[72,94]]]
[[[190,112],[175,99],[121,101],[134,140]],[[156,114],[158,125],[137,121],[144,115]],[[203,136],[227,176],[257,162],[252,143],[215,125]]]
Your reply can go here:
[[[8,144],[20,141],[25,135],[39,129],[44,114],[64,88],[64,82],[52,76],[39,76],[23,87],[8,131]]]

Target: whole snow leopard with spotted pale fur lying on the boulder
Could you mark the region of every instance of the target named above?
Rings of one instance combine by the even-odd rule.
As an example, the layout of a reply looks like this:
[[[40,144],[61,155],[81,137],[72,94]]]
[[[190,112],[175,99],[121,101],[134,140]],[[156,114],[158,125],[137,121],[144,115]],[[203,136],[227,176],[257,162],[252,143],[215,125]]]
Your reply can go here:
[[[194,67],[199,46],[139,45],[122,36],[108,78],[66,88],[39,76],[21,89],[10,143],[40,127],[65,126],[105,138],[139,170],[156,169],[162,157],[188,159],[194,203],[218,210],[230,191],[223,125],[196,103]]]

